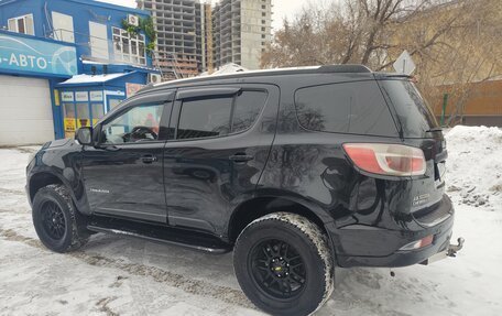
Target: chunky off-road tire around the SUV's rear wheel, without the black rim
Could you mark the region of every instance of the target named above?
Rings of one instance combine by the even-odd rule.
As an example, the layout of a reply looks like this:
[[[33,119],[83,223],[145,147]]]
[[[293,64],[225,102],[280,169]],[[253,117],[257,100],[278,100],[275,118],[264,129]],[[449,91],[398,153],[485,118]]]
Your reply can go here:
[[[257,270],[253,269],[257,269],[258,265],[254,261],[253,249],[268,244],[266,240],[284,241],[284,243],[293,246],[295,254],[299,254],[305,262],[303,265],[305,279],[301,285],[303,287],[297,290],[298,293],[293,299],[282,299],[282,297],[271,295],[266,292],[268,288],[263,290],[263,284],[257,281],[257,276],[253,276],[257,275],[257,272],[253,272]],[[281,246],[281,243],[279,244]],[[283,247],[287,249],[287,246],[283,244]],[[263,250],[263,252],[265,251],[268,250]],[[282,258],[281,261],[283,261]],[[268,263],[264,264],[269,266]],[[295,214],[275,213],[248,225],[237,239],[233,268],[239,284],[248,298],[272,315],[310,315],[324,305],[334,288],[334,263],[328,237],[317,225]],[[263,266],[261,269],[264,270]],[[275,271],[272,268],[271,270]],[[288,271],[292,273],[293,270]],[[282,277],[285,277],[284,274]],[[264,284],[271,286],[271,283]],[[290,284],[290,291],[291,288]]]

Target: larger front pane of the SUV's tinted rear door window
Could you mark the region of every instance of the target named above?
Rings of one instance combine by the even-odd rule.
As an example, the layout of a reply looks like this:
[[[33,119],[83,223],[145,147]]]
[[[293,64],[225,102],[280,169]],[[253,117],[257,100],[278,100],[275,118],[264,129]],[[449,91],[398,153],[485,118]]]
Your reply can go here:
[[[221,137],[230,132],[233,98],[199,98],[183,101],[177,139]]]

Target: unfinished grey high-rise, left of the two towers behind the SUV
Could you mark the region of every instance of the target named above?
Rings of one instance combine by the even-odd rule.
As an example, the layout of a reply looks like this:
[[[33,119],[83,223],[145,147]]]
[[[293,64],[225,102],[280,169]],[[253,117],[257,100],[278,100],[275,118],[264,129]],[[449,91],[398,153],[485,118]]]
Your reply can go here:
[[[152,12],[157,43],[154,63],[165,78],[186,78],[199,74],[197,40],[200,3],[195,0],[141,0],[140,9]]]

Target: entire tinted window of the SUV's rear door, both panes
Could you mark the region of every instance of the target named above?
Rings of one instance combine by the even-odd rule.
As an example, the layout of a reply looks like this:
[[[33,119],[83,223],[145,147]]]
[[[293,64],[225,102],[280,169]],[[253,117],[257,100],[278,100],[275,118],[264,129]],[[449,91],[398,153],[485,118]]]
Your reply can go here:
[[[249,129],[263,109],[264,90],[241,90],[233,96],[183,100],[177,139],[225,137]]]

